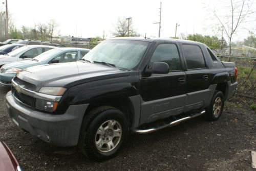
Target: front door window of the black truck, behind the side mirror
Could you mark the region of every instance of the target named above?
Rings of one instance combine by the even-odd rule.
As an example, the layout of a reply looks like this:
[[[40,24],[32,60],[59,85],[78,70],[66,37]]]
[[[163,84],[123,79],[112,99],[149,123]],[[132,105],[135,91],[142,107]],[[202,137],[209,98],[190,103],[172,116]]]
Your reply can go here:
[[[169,65],[169,70],[181,70],[180,57],[175,44],[160,44],[151,57],[153,62],[165,62]]]

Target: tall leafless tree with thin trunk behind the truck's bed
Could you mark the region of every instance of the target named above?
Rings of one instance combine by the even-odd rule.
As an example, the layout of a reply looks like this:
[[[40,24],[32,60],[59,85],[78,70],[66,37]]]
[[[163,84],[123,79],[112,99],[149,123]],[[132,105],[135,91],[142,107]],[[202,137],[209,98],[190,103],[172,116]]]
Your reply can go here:
[[[253,2],[249,0],[242,0],[242,1],[234,1],[230,0],[230,4],[225,6],[225,11],[229,9],[229,15],[220,15],[220,11],[211,10],[214,13],[214,16],[220,22],[224,33],[228,37],[229,42],[229,55],[231,55],[231,40],[233,34],[236,33],[237,29],[241,25],[241,23],[245,22],[246,17],[250,14],[254,13],[255,11],[251,11],[251,6]]]

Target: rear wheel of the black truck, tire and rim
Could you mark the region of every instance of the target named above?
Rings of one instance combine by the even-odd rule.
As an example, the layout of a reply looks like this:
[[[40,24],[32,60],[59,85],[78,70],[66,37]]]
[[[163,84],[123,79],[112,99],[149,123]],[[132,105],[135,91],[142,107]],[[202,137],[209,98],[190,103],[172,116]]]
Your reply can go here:
[[[215,91],[214,96],[212,96],[210,105],[205,109],[206,119],[210,121],[218,120],[221,117],[223,107],[224,107],[224,94],[222,91]]]

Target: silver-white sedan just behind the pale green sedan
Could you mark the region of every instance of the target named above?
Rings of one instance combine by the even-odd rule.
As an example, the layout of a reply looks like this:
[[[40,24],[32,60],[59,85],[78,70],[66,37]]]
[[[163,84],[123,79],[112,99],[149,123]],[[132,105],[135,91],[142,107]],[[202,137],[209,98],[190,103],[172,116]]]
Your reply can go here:
[[[28,60],[44,53],[52,48],[56,48],[55,46],[47,46],[47,45],[26,45],[23,47],[19,47],[16,50],[5,54],[0,55],[0,67],[4,64],[13,62],[13,61],[21,61]]]

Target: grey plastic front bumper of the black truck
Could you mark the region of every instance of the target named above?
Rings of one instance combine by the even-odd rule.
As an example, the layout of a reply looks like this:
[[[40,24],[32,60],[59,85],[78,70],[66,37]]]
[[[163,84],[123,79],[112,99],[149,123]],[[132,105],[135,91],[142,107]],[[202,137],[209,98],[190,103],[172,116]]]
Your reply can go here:
[[[32,110],[16,103],[11,91],[6,94],[7,111],[20,128],[59,146],[77,145],[83,115],[89,104],[71,105],[62,115]]]

